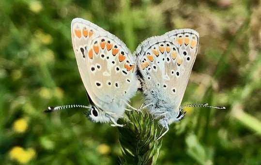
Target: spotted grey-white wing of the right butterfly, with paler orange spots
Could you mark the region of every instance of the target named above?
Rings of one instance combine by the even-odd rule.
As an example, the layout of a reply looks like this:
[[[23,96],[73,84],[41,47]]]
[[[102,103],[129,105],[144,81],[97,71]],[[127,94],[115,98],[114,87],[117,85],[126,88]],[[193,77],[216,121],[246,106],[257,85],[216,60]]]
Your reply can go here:
[[[136,49],[146,102],[178,111],[197,56],[199,33],[173,30],[143,41]]]

